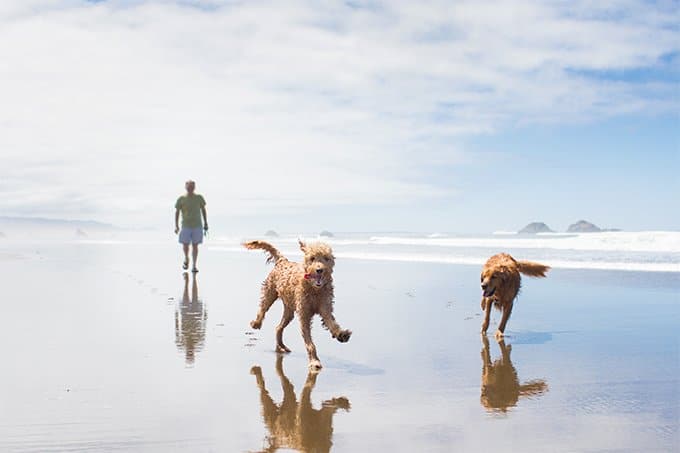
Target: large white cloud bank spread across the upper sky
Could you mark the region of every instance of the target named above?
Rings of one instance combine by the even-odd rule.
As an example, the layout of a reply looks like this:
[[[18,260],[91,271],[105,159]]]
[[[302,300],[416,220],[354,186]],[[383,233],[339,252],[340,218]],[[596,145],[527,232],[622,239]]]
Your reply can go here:
[[[0,6],[0,211],[149,221],[450,196],[457,137],[677,107],[673,3],[25,1]],[[219,200],[219,203],[217,201]]]

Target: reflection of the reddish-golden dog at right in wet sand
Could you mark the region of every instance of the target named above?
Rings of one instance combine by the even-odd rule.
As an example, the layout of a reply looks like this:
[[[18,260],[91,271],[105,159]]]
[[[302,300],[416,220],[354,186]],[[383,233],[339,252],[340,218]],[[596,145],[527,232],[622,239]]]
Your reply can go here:
[[[501,350],[500,358],[491,362],[489,340],[482,335],[482,406],[493,412],[507,412],[508,408],[517,405],[520,398],[539,396],[548,390],[548,384],[541,379],[519,383],[517,370],[510,360],[512,345],[505,341],[498,342]]]

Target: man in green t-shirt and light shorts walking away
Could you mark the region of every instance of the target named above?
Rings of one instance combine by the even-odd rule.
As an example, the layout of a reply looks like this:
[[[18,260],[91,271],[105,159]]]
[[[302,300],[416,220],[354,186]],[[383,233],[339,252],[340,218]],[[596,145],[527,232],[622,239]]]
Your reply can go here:
[[[194,265],[191,272],[198,272],[198,244],[203,242],[203,232],[208,231],[208,214],[205,211],[205,200],[202,195],[194,193],[196,183],[187,181],[184,184],[187,193],[180,196],[175,203],[175,234],[179,233],[179,242],[184,251],[182,269],[189,269],[189,244]],[[182,229],[179,228],[179,214],[182,213]],[[201,221],[201,215],[203,220]]]

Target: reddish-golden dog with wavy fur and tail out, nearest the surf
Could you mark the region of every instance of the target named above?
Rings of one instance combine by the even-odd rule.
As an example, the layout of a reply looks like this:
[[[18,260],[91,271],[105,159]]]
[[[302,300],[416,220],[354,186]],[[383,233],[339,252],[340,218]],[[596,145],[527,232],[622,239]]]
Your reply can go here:
[[[501,322],[496,330],[496,338],[501,338],[505,332],[505,326],[512,313],[512,305],[515,302],[522,284],[520,274],[530,277],[545,277],[550,267],[531,261],[517,261],[507,253],[494,255],[482,268],[482,310],[484,321],[482,322],[482,334],[486,334],[491,318],[491,306],[495,305],[501,310]]]

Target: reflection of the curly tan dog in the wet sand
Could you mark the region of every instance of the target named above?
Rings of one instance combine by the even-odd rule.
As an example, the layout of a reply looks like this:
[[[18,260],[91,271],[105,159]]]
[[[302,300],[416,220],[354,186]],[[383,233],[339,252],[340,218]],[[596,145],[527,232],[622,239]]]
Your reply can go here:
[[[262,417],[269,435],[265,438],[263,451],[273,452],[279,448],[302,452],[330,451],[333,437],[333,415],[338,409],[349,411],[349,400],[333,398],[321,403],[321,409],[312,407],[312,390],[316,385],[316,373],[309,373],[298,402],[295,389],[283,373],[283,356],[276,359],[276,373],[283,388],[283,401],[276,404],[269,396],[262,378],[262,369],[254,366],[250,374],[255,376],[260,389]]]

